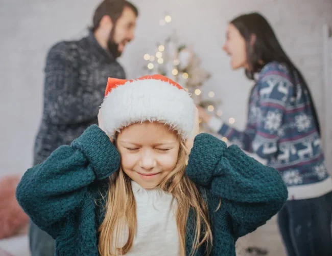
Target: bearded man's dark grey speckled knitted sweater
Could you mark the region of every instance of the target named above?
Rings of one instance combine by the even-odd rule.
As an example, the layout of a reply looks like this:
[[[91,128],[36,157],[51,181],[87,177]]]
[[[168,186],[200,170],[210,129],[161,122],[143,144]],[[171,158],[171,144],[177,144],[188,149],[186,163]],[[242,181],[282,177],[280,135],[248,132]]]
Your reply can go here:
[[[78,41],[62,41],[51,48],[46,58],[44,108],[34,164],[97,123],[108,77],[125,78],[125,72],[92,32]]]

